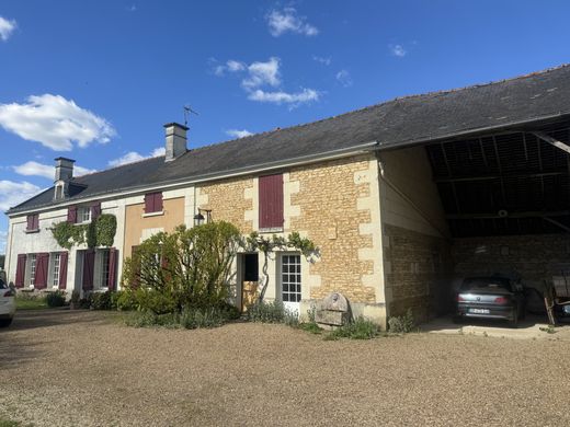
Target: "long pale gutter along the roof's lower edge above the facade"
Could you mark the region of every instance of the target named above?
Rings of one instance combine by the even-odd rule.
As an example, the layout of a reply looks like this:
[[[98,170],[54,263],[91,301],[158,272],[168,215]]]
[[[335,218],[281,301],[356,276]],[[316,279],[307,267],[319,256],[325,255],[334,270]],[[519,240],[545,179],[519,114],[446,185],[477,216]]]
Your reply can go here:
[[[12,209],[9,209],[8,211],[5,211],[4,214],[8,217],[12,218],[14,216],[26,215],[30,212],[35,214],[35,212],[39,212],[39,211],[60,209],[60,208],[65,208],[68,206],[73,206],[78,203],[101,200],[101,199],[105,199],[105,198],[118,198],[118,197],[137,195],[140,193],[147,193],[147,192],[158,191],[158,189],[172,189],[175,187],[184,187],[184,186],[200,184],[200,183],[209,182],[209,181],[218,181],[218,180],[225,180],[225,178],[229,178],[229,177],[255,174],[259,172],[274,171],[277,169],[305,165],[305,164],[310,164],[310,163],[320,162],[320,161],[342,159],[342,158],[347,158],[347,157],[362,154],[362,153],[366,153],[366,152],[374,152],[377,149],[378,149],[378,142],[371,141],[371,142],[361,143],[358,146],[354,146],[354,147],[350,147],[350,148],[342,148],[342,149],[338,149],[338,150],[326,151],[324,153],[300,155],[300,157],[288,159],[288,160],[280,160],[280,161],[275,161],[275,162],[261,163],[261,164],[256,164],[253,166],[237,168],[237,169],[229,170],[229,171],[221,172],[221,173],[217,172],[217,173],[203,174],[203,175],[198,175],[192,180],[180,178],[180,180],[174,180],[174,181],[164,181],[162,183],[157,183],[153,185],[147,185],[147,186],[141,185],[141,186],[136,186],[136,187],[129,187],[127,191],[99,193],[99,194],[94,194],[90,197],[73,198],[66,203],[61,203],[61,204],[57,204],[57,205],[38,205],[38,206],[31,207],[29,209],[23,209],[23,210],[14,210],[15,208],[12,208]]]

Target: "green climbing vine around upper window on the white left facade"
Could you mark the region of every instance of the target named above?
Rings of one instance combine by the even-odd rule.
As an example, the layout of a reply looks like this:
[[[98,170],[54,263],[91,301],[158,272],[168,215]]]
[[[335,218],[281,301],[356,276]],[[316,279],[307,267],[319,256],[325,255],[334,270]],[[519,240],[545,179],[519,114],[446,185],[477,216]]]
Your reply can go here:
[[[52,227],[57,244],[68,251],[83,243],[87,243],[88,247],[112,246],[116,230],[117,219],[111,214],[103,214],[87,224],[61,221]]]

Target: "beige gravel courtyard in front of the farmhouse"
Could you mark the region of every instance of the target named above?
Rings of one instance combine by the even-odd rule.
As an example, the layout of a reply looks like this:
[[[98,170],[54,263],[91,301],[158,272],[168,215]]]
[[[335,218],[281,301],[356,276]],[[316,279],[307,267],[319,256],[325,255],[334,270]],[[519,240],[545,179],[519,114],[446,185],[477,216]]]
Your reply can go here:
[[[560,426],[570,341],[411,334],[323,341],[282,325],[130,328],[20,312],[0,332],[0,419],[37,426]]]

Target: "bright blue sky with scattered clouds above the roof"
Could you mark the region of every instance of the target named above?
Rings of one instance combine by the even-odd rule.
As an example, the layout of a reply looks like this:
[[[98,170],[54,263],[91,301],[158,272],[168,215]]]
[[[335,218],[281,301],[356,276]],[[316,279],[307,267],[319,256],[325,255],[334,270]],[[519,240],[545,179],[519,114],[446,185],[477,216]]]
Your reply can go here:
[[[570,61],[570,2],[0,2],[0,209],[84,173]],[[81,169],[82,168],[82,169]],[[7,218],[0,218],[0,253]]]

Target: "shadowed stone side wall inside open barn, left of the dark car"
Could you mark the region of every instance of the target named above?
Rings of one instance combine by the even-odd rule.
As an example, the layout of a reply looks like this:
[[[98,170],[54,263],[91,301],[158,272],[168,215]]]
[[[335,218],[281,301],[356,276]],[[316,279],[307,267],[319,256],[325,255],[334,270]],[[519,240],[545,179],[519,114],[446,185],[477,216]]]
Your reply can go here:
[[[417,320],[449,305],[451,234],[423,147],[380,154],[388,315],[412,309]]]

